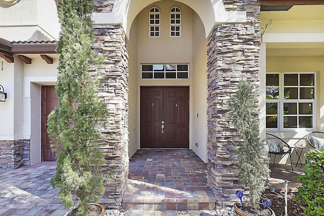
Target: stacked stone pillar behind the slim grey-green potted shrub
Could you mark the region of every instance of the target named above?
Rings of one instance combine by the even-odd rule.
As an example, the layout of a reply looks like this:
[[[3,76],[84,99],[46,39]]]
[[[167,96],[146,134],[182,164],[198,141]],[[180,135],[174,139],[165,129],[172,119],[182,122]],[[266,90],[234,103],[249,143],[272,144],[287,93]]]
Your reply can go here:
[[[229,120],[227,101],[242,75],[258,89],[261,46],[260,6],[256,0],[223,0],[227,11],[246,11],[246,23],[215,26],[208,39],[208,176],[207,185],[216,205],[232,206],[235,191],[246,188],[238,181],[239,169],[232,154],[236,133]]]

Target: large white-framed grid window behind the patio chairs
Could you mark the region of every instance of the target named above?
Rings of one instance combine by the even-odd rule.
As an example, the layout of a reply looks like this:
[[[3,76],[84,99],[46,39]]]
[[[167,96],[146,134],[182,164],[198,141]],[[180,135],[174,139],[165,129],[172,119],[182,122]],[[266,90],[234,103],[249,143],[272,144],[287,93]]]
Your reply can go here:
[[[307,72],[266,74],[267,129],[314,129],[315,80],[315,73]]]

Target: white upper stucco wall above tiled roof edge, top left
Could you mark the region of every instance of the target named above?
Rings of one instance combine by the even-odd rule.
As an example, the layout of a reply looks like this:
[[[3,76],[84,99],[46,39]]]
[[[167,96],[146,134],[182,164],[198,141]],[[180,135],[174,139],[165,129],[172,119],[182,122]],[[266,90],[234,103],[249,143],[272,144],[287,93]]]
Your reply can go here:
[[[20,1],[13,6],[0,3],[0,37],[9,41],[56,40],[60,24],[52,0]]]

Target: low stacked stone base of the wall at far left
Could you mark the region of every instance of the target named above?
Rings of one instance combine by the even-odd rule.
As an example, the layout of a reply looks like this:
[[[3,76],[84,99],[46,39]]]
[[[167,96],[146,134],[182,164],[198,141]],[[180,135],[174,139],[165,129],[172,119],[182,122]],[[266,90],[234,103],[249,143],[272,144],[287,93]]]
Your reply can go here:
[[[0,140],[0,168],[17,169],[29,165],[30,140]]]

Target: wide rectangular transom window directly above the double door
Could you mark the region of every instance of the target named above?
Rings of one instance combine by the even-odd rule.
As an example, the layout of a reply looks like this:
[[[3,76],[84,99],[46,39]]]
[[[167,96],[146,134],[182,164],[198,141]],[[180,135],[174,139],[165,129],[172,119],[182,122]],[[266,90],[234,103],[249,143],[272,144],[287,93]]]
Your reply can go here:
[[[142,79],[188,79],[189,64],[142,64]]]

